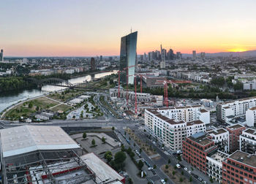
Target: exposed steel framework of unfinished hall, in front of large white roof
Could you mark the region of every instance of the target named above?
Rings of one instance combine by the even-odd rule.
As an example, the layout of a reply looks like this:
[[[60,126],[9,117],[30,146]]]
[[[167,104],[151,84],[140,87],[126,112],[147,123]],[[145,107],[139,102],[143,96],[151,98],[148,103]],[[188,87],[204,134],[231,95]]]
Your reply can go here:
[[[5,158],[1,154],[1,161],[4,184],[85,183],[96,177],[73,149],[36,150]]]

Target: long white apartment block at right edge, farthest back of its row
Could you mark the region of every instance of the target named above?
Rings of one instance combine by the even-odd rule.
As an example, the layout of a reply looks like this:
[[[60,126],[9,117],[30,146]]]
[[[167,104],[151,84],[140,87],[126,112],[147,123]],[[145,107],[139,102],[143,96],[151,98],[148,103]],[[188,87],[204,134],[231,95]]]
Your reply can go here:
[[[216,107],[217,120],[225,122],[230,116],[233,118],[245,117],[246,110],[252,107],[256,107],[256,97],[219,103]]]

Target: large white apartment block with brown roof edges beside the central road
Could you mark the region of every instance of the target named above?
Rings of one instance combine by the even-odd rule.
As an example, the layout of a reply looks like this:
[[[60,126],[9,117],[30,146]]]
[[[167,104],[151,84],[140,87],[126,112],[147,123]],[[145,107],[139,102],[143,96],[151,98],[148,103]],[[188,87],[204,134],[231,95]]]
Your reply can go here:
[[[145,126],[148,133],[170,150],[182,150],[182,141],[187,135],[206,131],[206,123],[201,120],[185,122],[177,118],[169,118],[161,112],[162,109],[146,109]]]

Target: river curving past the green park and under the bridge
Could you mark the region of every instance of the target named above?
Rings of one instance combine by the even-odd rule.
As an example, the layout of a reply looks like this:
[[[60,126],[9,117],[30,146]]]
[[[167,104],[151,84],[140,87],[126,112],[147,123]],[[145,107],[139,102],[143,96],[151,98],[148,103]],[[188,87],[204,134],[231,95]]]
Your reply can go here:
[[[105,77],[110,74],[116,74],[117,71],[113,72],[103,72],[99,74],[88,74],[84,77],[77,77],[72,78],[69,80],[69,83],[76,84],[76,83],[83,83],[84,81],[91,81],[92,77],[94,78],[101,78]],[[64,89],[64,87],[59,87],[55,85],[43,85],[41,89],[33,88],[33,89],[23,89],[23,90],[16,90],[16,91],[8,91],[0,93],[0,112],[2,112],[7,107],[10,107],[12,104],[18,103],[18,101],[23,101],[26,99],[31,99],[37,96],[41,96],[45,93],[49,93],[51,91],[59,91]]]

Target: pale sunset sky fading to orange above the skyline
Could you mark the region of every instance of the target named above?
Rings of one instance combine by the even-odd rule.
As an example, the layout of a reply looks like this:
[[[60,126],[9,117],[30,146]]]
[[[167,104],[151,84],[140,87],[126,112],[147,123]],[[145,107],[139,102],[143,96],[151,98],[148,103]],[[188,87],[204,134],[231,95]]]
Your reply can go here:
[[[0,48],[9,56],[256,50],[255,0],[1,0]]]

